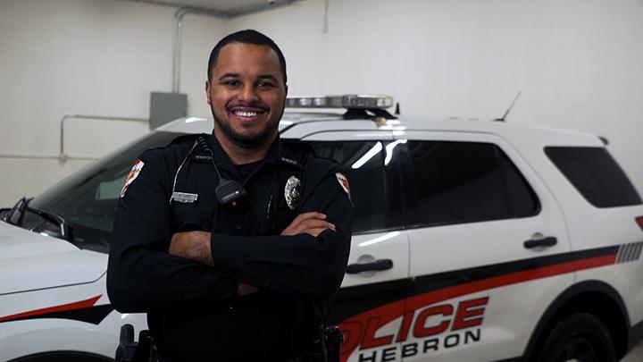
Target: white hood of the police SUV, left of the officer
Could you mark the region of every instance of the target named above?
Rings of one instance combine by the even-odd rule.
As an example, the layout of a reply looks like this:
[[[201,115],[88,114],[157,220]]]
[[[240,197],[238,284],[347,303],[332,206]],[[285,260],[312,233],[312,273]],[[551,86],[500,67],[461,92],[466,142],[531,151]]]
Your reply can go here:
[[[0,222],[0,295],[96,282],[107,255]]]

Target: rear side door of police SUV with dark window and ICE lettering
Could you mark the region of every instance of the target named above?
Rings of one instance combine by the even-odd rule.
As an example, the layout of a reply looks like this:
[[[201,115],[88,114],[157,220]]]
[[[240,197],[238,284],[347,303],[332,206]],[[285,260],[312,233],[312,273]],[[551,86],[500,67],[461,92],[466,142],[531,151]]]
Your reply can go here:
[[[405,131],[398,140],[413,278],[397,331],[402,360],[521,356],[572,282],[555,199],[495,135]]]

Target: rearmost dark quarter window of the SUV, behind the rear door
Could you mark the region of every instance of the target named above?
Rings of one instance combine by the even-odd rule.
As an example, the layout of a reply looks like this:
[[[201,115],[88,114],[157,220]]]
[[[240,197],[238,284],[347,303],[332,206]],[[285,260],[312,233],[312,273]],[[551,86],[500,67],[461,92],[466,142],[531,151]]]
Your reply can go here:
[[[639,193],[605,147],[545,147],[545,153],[591,205],[641,204]]]

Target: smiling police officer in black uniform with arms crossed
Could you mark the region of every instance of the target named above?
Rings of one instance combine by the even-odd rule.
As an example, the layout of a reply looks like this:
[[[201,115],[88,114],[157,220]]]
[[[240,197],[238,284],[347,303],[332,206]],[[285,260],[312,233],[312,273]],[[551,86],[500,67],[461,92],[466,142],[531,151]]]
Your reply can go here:
[[[338,164],[279,138],[280,48],[221,39],[205,82],[212,135],[141,155],[121,191],[113,306],[146,312],[159,360],[305,360],[346,270],[351,203]]]

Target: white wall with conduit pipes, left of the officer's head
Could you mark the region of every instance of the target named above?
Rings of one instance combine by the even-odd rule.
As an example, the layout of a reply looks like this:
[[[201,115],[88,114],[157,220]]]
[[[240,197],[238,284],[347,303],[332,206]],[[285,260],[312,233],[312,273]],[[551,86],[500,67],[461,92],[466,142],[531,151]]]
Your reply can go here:
[[[171,91],[176,8],[108,0],[0,0],[0,206],[35,196],[88,160],[57,156],[64,114],[147,118],[152,91]],[[209,114],[205,68],[224,21],[184,18],[181,93]],[[195,69],[196,68],[196,69]],[[69,156],[103,156],[146,123],[65,122]]]

